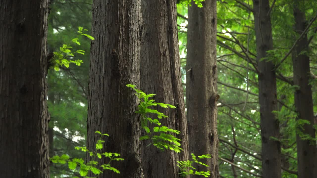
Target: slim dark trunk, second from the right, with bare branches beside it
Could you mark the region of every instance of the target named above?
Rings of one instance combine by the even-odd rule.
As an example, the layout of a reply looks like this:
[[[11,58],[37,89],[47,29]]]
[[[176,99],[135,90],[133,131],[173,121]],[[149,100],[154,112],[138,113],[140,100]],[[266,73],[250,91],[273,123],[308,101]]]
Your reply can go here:
[[[268,0],[253,0],[258,62],[259,103],[262,137],[263,178],[281,178],[281,146],[271,137],[280,138],[279,121],[272,111],[277,110],[276,75],[272,61],[262,59],[273,49],[272,27]]]

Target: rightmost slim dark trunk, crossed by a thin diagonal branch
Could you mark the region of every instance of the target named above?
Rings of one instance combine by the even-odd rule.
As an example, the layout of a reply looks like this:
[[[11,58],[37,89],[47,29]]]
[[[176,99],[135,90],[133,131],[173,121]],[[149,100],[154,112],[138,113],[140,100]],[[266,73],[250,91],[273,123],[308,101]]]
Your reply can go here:
[[[307,22],[305,12],[299,7],[304,7],[303,1],[294,1],[295,31],[301,35],[306,29]],[[296,44],[293,51],[293,72],[294,84],[299,86],[294,93],[295,108],[298,113],[296,120],[304,119],[310,124],[303,125],[303,129],[297,131],[297,160],[298,160],[298,178],[317,177],[317,149],[312,140],[302,140],[302,134],[315,138],[314,111],[312,86],[309,84],[310,69],[307,46],[307,34],[305,34]]]

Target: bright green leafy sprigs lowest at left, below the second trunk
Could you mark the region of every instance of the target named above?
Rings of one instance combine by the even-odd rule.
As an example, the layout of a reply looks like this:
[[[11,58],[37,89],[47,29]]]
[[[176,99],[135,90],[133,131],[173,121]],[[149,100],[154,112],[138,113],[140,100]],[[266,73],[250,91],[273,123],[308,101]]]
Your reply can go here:
[[[102,136],[109,137],[109,135],[102,134],[100,131],[95,131],[95,133],[100,134],[100,139],[97,140],[96,150],[94,152],[89,151],[86,147],[75,147],[75,149],[81,150],[83,152],[88,152],[89,156],[92,157],[91,160],[101,159],[102,156],[104,156],[104,157],[109,159],[109,162],[107,164],[99,165],[98,160],[97,161],[89,161],[89,162],[87,162],[87,164],[85,164],[84,160],[82,158],[70,159],[70,157],[68,155],[65,155],[65,154],[62,156],[57,156],[57,155],[53,156],[50,160],[53,163],[60,163],[60,164],[68,163],[68,168],[70,170],[79,172],[79,174],[85,178],[92,178],[92,177],[87,176],[89,171],[91,171],[94,175],[96,175],[94,178],[97,178],[98,175],[100,175],[104,170],[111,170],[117,174],[120,174],[120,171],[116,168],[111,167],[110,163],[112,161],[122,161],[124,159],[118,157],[118,156],[120,156],[119,153],[110,153],[110,152],[101,153],[101,149],[103,148],[103,143],[105,143],[104,140],[101,140]],[[74,178],[76,178],[76,177],[77,176],[74,176]]]

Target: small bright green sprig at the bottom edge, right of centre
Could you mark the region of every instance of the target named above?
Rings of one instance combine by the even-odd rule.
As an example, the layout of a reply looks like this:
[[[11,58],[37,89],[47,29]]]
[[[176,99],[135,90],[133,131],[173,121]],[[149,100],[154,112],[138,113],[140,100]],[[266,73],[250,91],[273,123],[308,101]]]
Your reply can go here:
[[[198,158],[197,158],[198,157]],[[195,171],[196,168],[193,167],[193,164],[200,164],[206,167],[209,167],[207,164],[204,164],[201,162],[201,159],[204,158],[211,158],[211,155],[201,155],[201,156],[195,156],[193,153],[191,154],[191,159],[193,161],[178,161],[178,167],[179,167],[179,174],[181,177],[186,177],[187,175],[203,175],[204,177],[210,176],[210,171]]]

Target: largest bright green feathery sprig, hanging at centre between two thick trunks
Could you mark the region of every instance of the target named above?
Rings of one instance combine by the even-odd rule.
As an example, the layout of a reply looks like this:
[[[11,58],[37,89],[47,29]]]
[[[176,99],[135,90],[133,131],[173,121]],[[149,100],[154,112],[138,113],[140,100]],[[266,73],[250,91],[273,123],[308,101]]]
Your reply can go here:
[[[140,140],[147,140],[151,139],[151,144],[153,144],[155,147],[159,149],[170,149],[177,153],[179,153],[182,148],[180,148],[180,139],[176,138],[174,135],[168,134],[168,133],[174,133],[179,134],[180,131],[174,130],[171,128],[168,128],[166,126],[161,127],[153,127],[153,130],[151,131],[148,127],[148,124],[156,124],[158,126],[161,125],[159,122],[159,119],[162,118],[168,118],[165,116],[164,113],[161,113],[155,109],[150,109],[151,106],[161,106],[163,108],[176,108],[173,105],[164,104],[164,103],[156,103],[154,102],[154,99],[150,99],[151,97],[155,96],[155,94],[146,94],[142,92],[141,90],[137,89],[135,85],[127,84],[127,87],[132,88],[135,91],[135,95],[137,95],[140,104],[138,105],[138,110],[135,111],[135,113],[139,114],[141,117],[141,127],[146,131],[146,135],[141,136]],[[147,114],[156,114],[158,119],[152,119],[147,117]],[[148,146],[149,146],[148,145]]]

